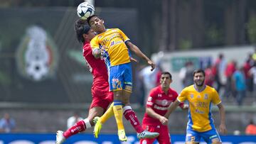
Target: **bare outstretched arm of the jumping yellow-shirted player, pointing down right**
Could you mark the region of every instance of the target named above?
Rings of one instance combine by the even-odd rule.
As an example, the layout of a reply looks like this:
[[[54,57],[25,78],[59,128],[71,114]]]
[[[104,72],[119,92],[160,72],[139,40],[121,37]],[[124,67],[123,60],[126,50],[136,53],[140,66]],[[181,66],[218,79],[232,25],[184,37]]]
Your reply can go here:
[[[132,52],[135,53],[135,55],[137,55],[138,57],[141,57],[142,59],[146,60],[146,62],[151,66],[151,71],[154,70],[154,68],[156,67],[156,65],[154,64],[154,62],[152,62],[149,57],[146,57],[146,55],[144,55],[144,53],[139,50],[139,48],[134,45],[132,42],[127,41],[126,44],[128,45],[128,48],[130,50],[132,50]]]

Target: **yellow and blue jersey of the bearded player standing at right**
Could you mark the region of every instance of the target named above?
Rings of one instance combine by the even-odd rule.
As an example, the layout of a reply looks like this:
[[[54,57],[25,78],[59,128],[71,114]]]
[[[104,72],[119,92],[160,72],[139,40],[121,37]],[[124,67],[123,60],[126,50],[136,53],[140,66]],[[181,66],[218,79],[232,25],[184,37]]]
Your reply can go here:
[[[198,92],[194,85],[186,87],[177,97],[178,101],[188,101],[188,127],[194,131],[204,132],[214,128],[211,114],[212,104],[220,104],[218,92],[213,87],[206,86]]]

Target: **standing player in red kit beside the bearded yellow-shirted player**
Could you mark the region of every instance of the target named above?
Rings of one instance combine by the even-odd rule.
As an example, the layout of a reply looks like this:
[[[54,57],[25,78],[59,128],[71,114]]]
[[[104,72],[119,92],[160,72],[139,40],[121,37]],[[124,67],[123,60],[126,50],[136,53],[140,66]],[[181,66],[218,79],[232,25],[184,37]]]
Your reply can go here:
[[[170,88],[172,82],[169,72],[162,72],[160,85],[151,89],[148,101],[146,102],[146,113],[142,120],[142,127],[150,132],[157,132],[156,138],[141,139],[139,143],[154,143],[157,140],[159,144],[170,144],[171,138],[168,128],[168,119],[164,117],[169,105],[176,100],[178,94]],[[188,109],[188,105],[181,103],[181,109]]]

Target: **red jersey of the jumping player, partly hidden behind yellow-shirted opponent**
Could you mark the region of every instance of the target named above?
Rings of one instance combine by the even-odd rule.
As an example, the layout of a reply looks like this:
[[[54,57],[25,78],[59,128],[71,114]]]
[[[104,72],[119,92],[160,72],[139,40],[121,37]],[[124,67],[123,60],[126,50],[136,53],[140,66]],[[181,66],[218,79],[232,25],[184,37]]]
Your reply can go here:
[[[95,57],[92,55],[90,43],[84,43],[82,55],[85,57],[85,63],[92,73],[92,89],[106,89],[106,87],[109,87],[105,61],[101,58],[95,59]]]

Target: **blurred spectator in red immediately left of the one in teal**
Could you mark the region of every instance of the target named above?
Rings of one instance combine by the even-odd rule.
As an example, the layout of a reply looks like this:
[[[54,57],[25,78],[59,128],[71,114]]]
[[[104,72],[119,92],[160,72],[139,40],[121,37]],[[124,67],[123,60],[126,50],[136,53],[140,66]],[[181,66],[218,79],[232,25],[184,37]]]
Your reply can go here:
[[[230,61],[225,69],[225,77],[227,77],[227,82],[225,84],[224,96],[235,96],[235,89],[232,87],[232,76],[236,70],[236,62],[234,60]]]

